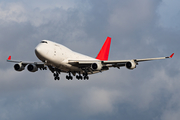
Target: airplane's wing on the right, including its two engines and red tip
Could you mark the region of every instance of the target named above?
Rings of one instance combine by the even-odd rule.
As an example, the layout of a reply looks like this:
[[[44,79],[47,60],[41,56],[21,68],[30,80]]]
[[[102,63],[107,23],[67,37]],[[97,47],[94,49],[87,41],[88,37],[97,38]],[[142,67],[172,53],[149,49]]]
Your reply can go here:
[[[108,60],[108,61],[100,61],[100,60],[69,60],[69,64],[80,67],[86,68],[89,71],[101,71],[101,70],[108,70],[109,67],[123,67],[126,66],[128,69],[136,68],[138,62],[143,61],[151,61],[151,60],[160,60],[160,59],[167,59],[172,58],[174,55],[171,54],[169,57],[158,57],[158,58],[145,58],[145,59],[132,59],[132,60]]]

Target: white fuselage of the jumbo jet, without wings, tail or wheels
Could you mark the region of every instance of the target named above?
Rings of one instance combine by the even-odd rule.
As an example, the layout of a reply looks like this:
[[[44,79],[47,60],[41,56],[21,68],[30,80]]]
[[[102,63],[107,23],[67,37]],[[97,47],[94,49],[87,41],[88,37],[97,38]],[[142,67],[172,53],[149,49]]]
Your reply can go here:
[[[49,41],[42,40],[35,48],[36,56],[47,65],[51,65],[62,71],[81,71],[80,68],[68,64],[69,60],[96,60],[95,58],[74,52],[69,48]]]

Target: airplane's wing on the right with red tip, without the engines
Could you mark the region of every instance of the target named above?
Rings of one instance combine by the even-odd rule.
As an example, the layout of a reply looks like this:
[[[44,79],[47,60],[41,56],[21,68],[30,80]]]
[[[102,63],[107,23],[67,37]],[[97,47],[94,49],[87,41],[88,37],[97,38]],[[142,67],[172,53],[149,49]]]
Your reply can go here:
[[[120,67],[126,66],[126,64],[128,62],[134,62],[135,65],[138,65],[138,62],[167,59],[167,58],[172,58],[173,55],[174,55],[174,53],[171,54],[169,57],[132,59],[132,60],[108,60],[108,61],[100,61],[100,60],[89,60],[89,61],[88,60],[69,60],[68,63],[73,65],[73,66],[76,66],[76,67],[88,68],[88,69],[91,69],[91,70],[93,70],[92,68],[90,68],[93,63],[101,63],[103,65],[104,69],[107,70],[109,67],[120,68]]]

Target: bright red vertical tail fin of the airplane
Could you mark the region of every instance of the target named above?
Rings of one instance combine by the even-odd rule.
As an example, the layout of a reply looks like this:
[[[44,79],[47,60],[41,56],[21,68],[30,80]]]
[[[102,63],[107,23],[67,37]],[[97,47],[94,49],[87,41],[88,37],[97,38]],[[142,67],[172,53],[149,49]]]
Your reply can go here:
[[[96,59],[108,60],[110,45],[111,45],[111,38],[107,37],[107,39],[104,42],[104,45],[102,46],[102,48],[101,48],[99,54],[97,55]]]

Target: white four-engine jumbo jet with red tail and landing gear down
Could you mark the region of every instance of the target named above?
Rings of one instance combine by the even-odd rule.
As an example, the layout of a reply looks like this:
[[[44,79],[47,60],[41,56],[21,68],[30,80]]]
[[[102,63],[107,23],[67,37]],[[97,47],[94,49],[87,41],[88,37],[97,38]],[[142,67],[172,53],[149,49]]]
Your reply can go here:
[[[107,37],[100,52],[96,58],[89,57],[70,50],[69,48],[52,42],[50,40],[42,40],[35,48],[35,54],[41,62],[25,62],[19,60],[11,60],[8,62],[16,63],[14,69],[23,71],[27,66],[28,71],[36,72],[40,70],[49,70],[53,73],[54,80],[59,80],[59,74],[68,73],[67,80],[72,80],[76,76],[78,80],[88,80],[89,75],[107,71],[111,67],[120,69],[126,67],[133,70],[139,62],[172,58],[174,53],[169,57],[131,59],[131,60],[108,60],[110,51],[111,37]],[[73,75],[73,76],[72,76]]]

